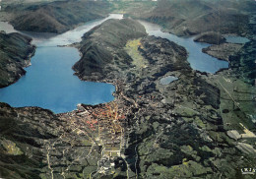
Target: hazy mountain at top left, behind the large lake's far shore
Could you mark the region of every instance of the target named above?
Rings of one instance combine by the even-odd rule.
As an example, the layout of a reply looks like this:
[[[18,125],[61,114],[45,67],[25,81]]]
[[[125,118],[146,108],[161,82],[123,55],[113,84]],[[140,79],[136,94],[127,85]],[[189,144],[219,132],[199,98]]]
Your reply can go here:
[[[107,16],[108,3],[96,1],[55,1],[9,5],[4,9],[16,30],[63,32]]]

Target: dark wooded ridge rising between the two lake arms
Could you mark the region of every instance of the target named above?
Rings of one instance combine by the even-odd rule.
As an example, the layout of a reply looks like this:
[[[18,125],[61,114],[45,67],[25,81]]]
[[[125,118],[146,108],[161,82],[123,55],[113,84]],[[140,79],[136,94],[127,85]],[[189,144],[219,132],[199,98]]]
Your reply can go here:
[[[144,27],[134,20],[108,20],[84,34],[80,44],[83,55],[73,69],[84,80],[101,80],[113,70],[110,67],[112,64],[131,64],[131,58],[120,49],[129,39],[145,35]]]

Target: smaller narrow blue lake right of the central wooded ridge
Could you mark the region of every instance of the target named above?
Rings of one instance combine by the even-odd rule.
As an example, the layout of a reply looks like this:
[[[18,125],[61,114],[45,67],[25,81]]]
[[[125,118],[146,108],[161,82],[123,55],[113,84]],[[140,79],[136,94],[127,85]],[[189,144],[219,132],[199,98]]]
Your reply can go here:
[[[202,48],[210,46],[210,44],[195,42],[194,37],[178,37],[168,32],[162,32],[160,26],[144,21],[140,21],[146,28],[150,35],[160,36],[162,38],[169,39],[181,46],[184,46],[189,53],[188,62],[191,68],[201,72],[216,73],[220,69],[228,68],[228,63],[223,60],[218,60],[208,54],[202,52]]]

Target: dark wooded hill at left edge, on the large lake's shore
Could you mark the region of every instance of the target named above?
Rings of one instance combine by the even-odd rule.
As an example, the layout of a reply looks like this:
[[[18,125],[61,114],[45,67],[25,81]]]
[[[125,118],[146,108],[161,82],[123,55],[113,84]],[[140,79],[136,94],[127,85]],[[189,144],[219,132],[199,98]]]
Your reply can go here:
[[[26,74],[34,46],[32,38],[20,33],[0,32],[0,88],[7,87]]]

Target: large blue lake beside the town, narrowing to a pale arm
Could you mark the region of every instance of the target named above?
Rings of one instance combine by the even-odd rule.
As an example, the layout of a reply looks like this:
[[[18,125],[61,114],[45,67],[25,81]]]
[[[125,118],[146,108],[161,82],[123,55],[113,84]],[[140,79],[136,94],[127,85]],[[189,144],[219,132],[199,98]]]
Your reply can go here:
[[[0,89],[0,101],[14,107],[39,106],[60,113],[76,109],[78,103],[98,104],[113,100],[113,85],[83,82],[73,75],[72,66],[80,59],[76,48],[57,47],[80,41],[85,32],[109,18],[122,16],[110,15],[59,35],[23,32],[32,36],[37,46],[32,66],[26,68],[27,74],[17,83]]]

